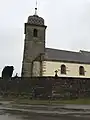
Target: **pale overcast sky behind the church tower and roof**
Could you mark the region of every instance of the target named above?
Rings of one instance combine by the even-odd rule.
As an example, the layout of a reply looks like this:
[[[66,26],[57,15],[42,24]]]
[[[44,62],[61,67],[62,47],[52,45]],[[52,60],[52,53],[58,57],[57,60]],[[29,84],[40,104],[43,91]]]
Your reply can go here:
[[[20,76],[24,23],[36,0],[0,0],[0,76],[6,65]],[[38,15],[47,25],[46,47],[90,51],[90,0],[38,0]]]

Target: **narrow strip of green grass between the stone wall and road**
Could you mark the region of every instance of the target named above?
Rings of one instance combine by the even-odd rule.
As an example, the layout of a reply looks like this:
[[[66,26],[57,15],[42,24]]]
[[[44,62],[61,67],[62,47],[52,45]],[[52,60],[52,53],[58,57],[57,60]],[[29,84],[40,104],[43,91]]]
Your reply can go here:
[[[76,100],[29,100],[29,99],[17,99],[12,103],[16,104],[28,104],[28,105],[54,105],[54,104],[90,104],[89,99],[76,99]]]

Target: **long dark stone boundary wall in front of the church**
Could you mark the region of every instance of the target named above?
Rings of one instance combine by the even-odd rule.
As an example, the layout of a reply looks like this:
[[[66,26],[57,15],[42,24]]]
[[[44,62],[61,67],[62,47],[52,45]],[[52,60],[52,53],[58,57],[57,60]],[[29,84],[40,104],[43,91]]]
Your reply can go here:
[[[33,91],[43,97],[52,98],[83,98],[90,97],[90,78],[71,77],[33,77],[33,78],[11,78],[2,80],[0,78],[0,93],[8,94],[30,94]]]

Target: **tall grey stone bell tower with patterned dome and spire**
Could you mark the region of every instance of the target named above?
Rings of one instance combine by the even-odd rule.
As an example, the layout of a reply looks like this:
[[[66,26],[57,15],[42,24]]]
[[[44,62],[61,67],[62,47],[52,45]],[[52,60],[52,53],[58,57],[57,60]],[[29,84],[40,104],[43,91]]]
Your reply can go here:
[[[45,30],[44,19],[37,15],[36,7],[35,14],[25,23],[22,77],[32,76],[33,61],[45,53]]]

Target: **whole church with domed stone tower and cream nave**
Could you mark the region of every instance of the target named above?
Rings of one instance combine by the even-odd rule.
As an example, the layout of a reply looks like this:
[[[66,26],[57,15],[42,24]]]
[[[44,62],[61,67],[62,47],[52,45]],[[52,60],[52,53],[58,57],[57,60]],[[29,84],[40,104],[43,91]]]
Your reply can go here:
[[[45,47],[47,26],[35,14],[25,23],[22,77],[55,76],[90,78],[90,52],[72,52]]]

